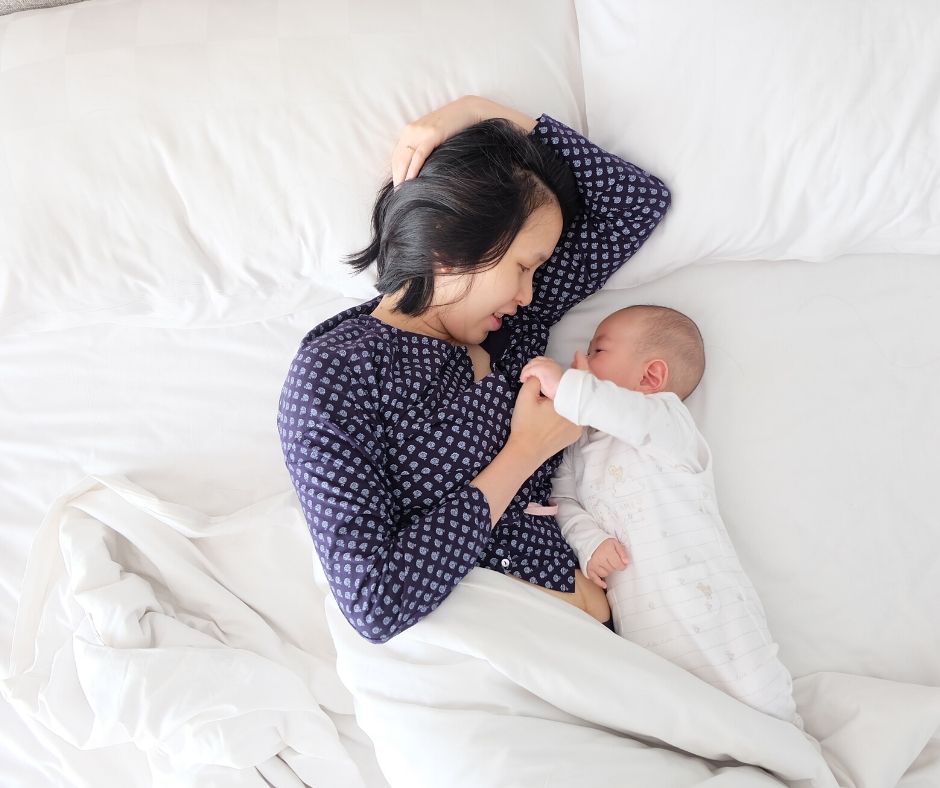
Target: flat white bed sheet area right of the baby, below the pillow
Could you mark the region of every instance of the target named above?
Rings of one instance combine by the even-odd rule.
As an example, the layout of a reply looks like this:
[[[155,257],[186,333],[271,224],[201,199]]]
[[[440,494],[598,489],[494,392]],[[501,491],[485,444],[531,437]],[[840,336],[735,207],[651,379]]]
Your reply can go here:
[[[699,324],[688,404],[795,676],[940,685],[938,284],[934,255],[693,266],[598,294],[550,343],[567,362],[573,334],[623,303]]]

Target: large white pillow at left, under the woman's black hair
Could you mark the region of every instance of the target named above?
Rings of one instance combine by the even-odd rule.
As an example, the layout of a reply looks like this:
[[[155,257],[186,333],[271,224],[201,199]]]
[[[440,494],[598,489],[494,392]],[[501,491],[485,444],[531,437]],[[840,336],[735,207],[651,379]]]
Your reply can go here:
[[[583,127],[565,0],[90,0],[0,21],[0,335],[371,295],[409,120],[466,93]]]

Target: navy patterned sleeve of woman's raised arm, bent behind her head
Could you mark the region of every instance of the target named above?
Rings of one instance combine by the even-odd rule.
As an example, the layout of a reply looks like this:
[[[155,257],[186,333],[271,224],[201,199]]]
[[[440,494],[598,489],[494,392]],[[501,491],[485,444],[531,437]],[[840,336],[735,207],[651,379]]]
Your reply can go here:
[[[548,115],[539,117],[532,135],[568,164],[582,201],[551,259],[535,273],[528,309],[551,326],[600,290],[643,245],[665,215],[670,194],[654,175]]]

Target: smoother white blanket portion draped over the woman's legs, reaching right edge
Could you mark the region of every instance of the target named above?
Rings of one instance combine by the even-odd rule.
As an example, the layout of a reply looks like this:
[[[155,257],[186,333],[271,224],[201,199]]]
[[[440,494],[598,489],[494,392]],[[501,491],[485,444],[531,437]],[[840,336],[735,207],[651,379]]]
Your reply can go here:
[[[393,786],[940,785],[940,688],[797,679],[813,738],[485,569],[381,646],[327,616]]]

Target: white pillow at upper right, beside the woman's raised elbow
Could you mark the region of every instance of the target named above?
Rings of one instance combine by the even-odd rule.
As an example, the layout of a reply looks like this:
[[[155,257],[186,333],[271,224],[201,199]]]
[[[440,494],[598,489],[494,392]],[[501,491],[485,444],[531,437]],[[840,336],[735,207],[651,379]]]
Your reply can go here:
[[[588,131],[672,189],[613,284],[940,252],[936,0],[578,0]]]

